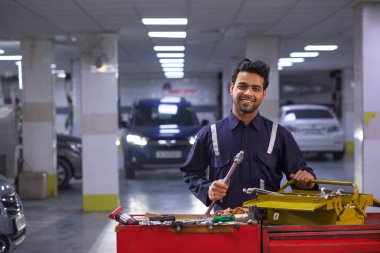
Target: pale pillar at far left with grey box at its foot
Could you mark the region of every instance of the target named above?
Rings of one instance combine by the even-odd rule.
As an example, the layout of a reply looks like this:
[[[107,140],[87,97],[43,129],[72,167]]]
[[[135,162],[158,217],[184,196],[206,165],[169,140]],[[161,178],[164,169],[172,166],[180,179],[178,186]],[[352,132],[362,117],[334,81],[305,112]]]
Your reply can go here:
[[[57,195],[53,43],[21,42],[23,68],[23,173],[20,195],[43,199]]]

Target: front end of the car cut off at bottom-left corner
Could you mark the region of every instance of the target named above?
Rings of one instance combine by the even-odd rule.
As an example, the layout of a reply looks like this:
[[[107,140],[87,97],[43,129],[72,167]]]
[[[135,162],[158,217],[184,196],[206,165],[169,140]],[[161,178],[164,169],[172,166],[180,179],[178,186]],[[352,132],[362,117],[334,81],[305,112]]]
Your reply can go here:
[[[0,175],[0,252],[9,252],[25,239],[26,221],[15,187]]]

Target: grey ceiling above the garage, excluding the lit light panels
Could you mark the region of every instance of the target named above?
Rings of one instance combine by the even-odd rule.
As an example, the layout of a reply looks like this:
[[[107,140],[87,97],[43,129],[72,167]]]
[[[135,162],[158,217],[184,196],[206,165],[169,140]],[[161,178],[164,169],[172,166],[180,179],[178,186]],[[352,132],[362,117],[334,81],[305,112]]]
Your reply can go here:
[[[280,38],[280,57],[308,44],[339,49],[285,68],[283,72],[352,67],[354,7],[359,0],[1,0],[0,49],[18,53],[14,40],[53,39],[58,68],[67,68],[84,32],[117,32],[119,71],[164,76],[154,45],[184,45],[185,77],[216,74],[245,54],[247,37]],[[142,18],[186,17],[186,39],[152,39]],[[8,67],[10,66],[10,67]],[[14,63],[0,63],[0,72]]]

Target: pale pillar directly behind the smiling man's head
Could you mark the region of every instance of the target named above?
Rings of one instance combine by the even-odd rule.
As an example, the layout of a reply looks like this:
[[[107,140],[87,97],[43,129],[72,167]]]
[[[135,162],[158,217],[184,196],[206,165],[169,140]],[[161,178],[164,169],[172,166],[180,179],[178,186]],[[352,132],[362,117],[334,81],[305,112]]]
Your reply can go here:
[[[260,114],[273,120],[279,120],[279,40],[275,37],[247,38],[246,57],[250,60],[261,60],[270,66],[269,86],[266,97],[260,107]]]

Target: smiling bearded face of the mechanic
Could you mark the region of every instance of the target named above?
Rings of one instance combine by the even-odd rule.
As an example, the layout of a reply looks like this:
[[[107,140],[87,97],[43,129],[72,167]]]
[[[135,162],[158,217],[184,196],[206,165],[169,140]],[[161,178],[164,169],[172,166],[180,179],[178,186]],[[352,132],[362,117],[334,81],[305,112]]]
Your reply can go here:
[[[234,112],[255,113],[265,98],[264,78],[256,73],[239,72],[235,84],[230,85],[230,93]]]

